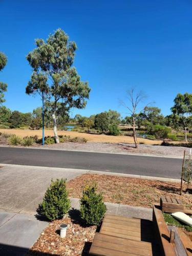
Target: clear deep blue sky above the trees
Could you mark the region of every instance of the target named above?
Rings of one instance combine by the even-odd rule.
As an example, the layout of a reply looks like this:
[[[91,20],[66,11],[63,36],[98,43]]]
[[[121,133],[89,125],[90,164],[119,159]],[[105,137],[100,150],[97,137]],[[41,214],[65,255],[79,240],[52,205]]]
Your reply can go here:
[[[25,56],[34,39],[62,28],[77,43],[74,66],[92,89],[84,110],[89,116],[125,110],[119,99],[131,87],[142,89],[164,115],[181,92],[191,93],[191,0],[0,0],[0,51],[8,65],[5,105],[32,111],[41,104],[25,94],[31,68]]]

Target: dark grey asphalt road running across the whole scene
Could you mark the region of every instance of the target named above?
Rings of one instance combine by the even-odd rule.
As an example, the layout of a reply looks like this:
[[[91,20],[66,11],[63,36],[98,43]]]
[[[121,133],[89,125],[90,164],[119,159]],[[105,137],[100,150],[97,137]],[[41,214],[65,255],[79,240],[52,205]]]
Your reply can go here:
[[[0,147],[0,163],[180,178],[182,159]]]

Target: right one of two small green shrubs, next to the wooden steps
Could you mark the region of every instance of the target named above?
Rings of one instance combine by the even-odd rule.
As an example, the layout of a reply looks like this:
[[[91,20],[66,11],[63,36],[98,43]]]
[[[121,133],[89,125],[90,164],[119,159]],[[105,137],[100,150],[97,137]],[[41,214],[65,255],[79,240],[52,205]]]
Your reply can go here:
[[[80,199],[81,218],[87,225],[99,225],[106,212],[103,196],[96,190],[96,183],[86,184]]]

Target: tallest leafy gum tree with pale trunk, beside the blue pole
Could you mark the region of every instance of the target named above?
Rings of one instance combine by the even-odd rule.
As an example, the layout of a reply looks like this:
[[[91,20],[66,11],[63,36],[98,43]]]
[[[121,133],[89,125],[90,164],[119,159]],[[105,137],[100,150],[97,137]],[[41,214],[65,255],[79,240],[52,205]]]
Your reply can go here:
[[[41,94],[45,90],[44,95],[49,100],[54,123],[55,141],[59,143],[57,115],[67,115],[71,108],[83,109],[91,89],[88,82],[80,80],[75,67],[72,66],[77,46],[74,41],[69,41],[69,36],[63,30],[57,29],[54,34],[49,35],[47,41],[36,39],[35,43],[36,48],[27,55],[33,74],[26,93]],[[39,75],[40,86],[33,79],[33,76]]]

